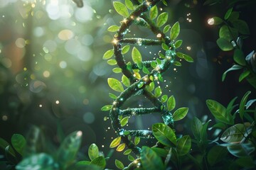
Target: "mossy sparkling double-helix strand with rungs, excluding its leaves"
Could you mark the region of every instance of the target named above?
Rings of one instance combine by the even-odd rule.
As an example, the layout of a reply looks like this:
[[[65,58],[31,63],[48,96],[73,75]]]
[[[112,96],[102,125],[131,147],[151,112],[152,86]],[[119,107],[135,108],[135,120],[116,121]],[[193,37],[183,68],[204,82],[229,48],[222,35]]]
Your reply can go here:
[[[152,81],[156,79],[161,79],[161,75],[166,72],[167,69],[171,66],[171,63],[174,62],[176,56],[176,47],[174,42],[171,41],[160,29],[157,27],[146,15],[145,12],[156,5],[160,0],[151,0],[144,1],[142,4],[137,6],[137,8],[129,14],[127,18],[122,21],[117,34],[114,36],[113,47],[114,47],[114,57],[117,61],[119,68],[122,69],[122,73],[129,79],[130,86],[122,91],[122,93],[115,99],[110,110],[110,119],[112,120],[112,128],[117,132],[117,134],[122,138],[122,141],[132,149],[134,154],[139,156],[141,149],[134,145],[132,140],[129,140],[130,136],[141,137],[141,138],[152,138],[152,132],[150,130],[124,130],[120,124],[119,116],[134,116],[134,115],[144,115],[148,113],[160,113],[164,123],[166,125],[174,128],[174,120],[172,118],[171,112],[167,111],[166,106],[154,96],[150,91],[146,90]],[[127,33],[127,29],[132,24],[138,24],[141,26],[148,26],[150,30],[156,35],[158,40],[144,39],[144,38],[124,38],[124,35]],[[178,25],[179,27],[179,25]],[[179,28],[178,28],[179,29]],[[179,31],[179,30],[178,30]],[[124,55],[122,54],[122,44],[132,44],[132,45],[161,45],[165,43],[169,50],[166,50],[166,57],[163,60],[155,61],[145,61],[138,62],[131,65],[128,65],[124,60]],[[148,72],[141,79],[134,77],[132,69],[144,69],[146,67],[151,67],[151,63],[154,62],[156,66]],[[143,95],[154,105],[152,108],[127,108],[125,110],[121,109],[121,106],[124,104],[127,99],[132,96]]]

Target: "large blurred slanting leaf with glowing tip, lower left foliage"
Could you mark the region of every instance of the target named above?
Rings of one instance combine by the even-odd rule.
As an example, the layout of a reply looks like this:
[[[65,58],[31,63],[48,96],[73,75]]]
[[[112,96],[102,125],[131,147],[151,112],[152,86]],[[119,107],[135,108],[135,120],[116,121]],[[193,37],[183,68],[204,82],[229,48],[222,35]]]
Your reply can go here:
[[[72,132],[70,135],[65,137],[57,152],[57,160],[62,169],[65,169],[68,165],[74,162],[81,142],[82,131]]]

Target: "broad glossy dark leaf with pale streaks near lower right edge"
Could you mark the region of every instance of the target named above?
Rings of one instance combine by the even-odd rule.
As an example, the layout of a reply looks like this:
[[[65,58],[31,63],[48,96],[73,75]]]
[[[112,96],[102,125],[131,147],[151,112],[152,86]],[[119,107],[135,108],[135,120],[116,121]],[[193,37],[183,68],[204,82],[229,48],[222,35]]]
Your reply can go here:
[[[239,123],[231,126],[223,135],[221,135],[220,140],[226,143],[239,143],[245,136],[245,125]]]

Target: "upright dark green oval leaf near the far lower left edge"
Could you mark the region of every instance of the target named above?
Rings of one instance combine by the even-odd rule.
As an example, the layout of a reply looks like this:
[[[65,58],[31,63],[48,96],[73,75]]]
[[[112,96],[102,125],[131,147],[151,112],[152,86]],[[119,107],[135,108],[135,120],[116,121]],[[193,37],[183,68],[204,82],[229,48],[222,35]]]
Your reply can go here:
[[[20,134],[14,134],[11,137],[11,145],[13,145],[14,149],[23,156],[23,149],[26,146],[26,140],[23,135]]]

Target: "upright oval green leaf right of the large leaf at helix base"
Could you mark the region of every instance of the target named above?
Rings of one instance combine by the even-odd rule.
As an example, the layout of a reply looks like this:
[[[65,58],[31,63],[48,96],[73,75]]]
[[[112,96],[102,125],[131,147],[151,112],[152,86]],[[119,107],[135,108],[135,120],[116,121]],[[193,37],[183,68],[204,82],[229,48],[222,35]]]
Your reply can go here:
[[[177,152],[179,156],[183,156],[188,154],[189,150],[191,149],[191,137],[185,135],[181,137],[180,140],[177,142]]]

